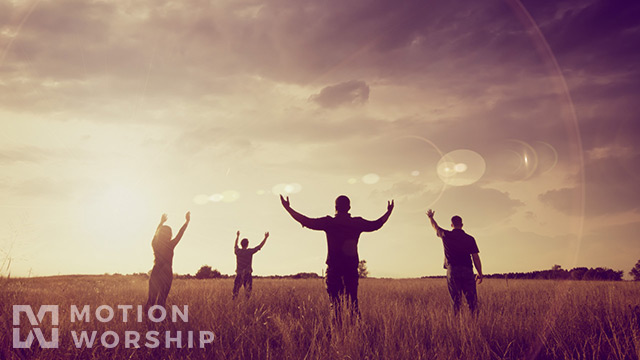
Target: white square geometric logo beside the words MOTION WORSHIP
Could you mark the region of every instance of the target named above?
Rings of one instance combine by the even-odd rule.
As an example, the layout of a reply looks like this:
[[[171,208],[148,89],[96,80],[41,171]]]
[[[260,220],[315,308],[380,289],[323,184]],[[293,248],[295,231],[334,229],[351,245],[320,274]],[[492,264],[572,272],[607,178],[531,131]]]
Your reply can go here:
[[[20,314],[27,314],[27,319],[29,319],[29,323],[34,327],[33,330],[29,331],[29,335],[27,335],[27,339],[22,341],[20,340]],[[44,334],[42,333],[42,329],[36,327],[40,325],[42,319],[44,319],[44,315],[46,313],[51,313],[51,326],[58,326],[58,305],[42,305],[40,306],[40,310],[38,310],[38,316],[33,313],[31,309],[31,305],[13,305],[13,347],[16,349],[25,349],[30,348],[31,343],[33,343],[33,334],[36,334],[36,338],[38,339],[38,343],[40,343],[41,348],[57,348],[58,347],[58,328],[51,328],[51,340],[47,341],[44,338]]]

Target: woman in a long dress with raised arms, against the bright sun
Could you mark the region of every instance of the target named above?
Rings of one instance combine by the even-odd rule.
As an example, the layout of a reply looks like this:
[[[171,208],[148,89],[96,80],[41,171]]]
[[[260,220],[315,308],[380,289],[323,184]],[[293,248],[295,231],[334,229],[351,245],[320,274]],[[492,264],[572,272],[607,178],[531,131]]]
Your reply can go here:
[[[182,239],[184,231],[189,225],[191,213],[185,214],[186,221],[178,231],[178,235],[171,240],[171,228],[164,223],[167,221],[167,214],[162,214],[160,224],[156,229],[151,246],[153,247],[154,264],[149,277],[149,299],[145,305],[145,311],[153,305],[162,305],[164,307],[171,289],[173,280],[173,249]]]

